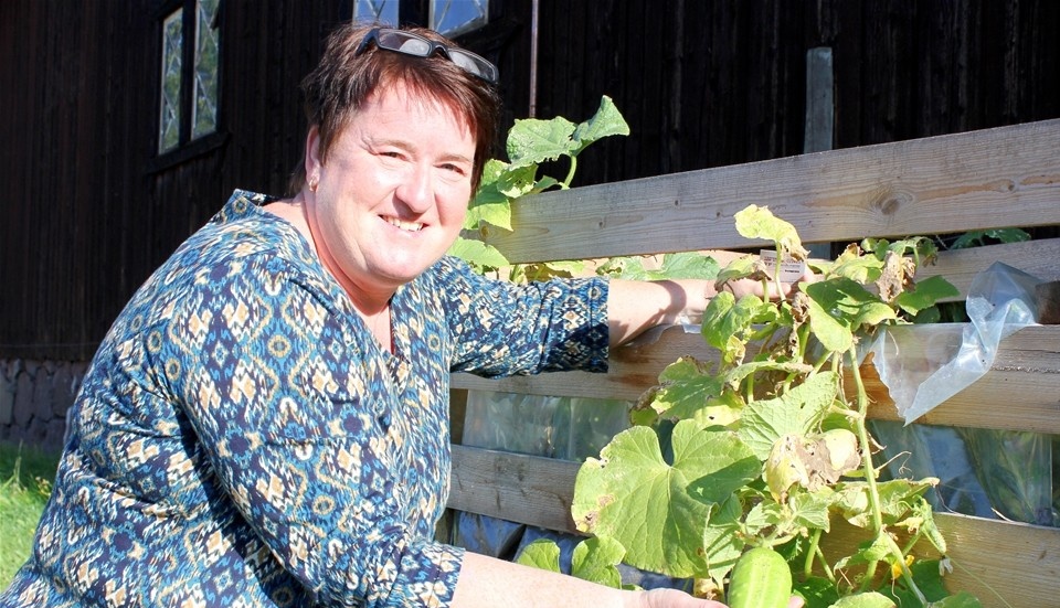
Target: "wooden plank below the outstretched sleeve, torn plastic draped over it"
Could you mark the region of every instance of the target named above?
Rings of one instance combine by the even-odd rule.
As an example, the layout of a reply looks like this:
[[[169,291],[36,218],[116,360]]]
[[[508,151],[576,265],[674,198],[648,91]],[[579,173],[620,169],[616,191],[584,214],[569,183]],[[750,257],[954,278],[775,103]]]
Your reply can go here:
[[[656,384],[664,367],[683,355],[703,361],[718,356],[698,332],[670,327],[614,349],[606,374],[559,372],[499,380],[454,374],[453,387],[636,401]],[[862,367],[862,375],[873,401],[870,416],[898,419],[871,365]],[[986,375],[918,422],[1060,434],[1060,326],[1031,326],[1004,340]]]

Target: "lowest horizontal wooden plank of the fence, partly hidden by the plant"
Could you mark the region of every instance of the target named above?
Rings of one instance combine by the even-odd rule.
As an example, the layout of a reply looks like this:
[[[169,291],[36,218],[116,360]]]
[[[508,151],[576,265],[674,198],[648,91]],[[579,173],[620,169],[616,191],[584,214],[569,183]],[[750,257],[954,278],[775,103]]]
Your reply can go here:
[[[576,462],[453,446],[448,504],[576,534],[570,505],[577,468]],[[947,577],[951,589],[973,593],[988,608],[1040,608],[1052,605],[1045,598],[1060,597],[1060,529],[946,513],[936,520],[955,566]],[[857,532],[837,526],[826,550],[863,540]],[[928,546],[919,548],[933,556]]]

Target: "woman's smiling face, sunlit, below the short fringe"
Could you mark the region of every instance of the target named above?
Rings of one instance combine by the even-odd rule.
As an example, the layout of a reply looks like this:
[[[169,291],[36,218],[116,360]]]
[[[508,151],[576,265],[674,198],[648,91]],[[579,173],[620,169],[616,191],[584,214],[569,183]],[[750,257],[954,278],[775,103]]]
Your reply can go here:
[[[314,241],[354,302],[386,300],[456,239],[471,195],[475,140],[445,106],[402,84],[377,92],[321,163],[307,141]]]

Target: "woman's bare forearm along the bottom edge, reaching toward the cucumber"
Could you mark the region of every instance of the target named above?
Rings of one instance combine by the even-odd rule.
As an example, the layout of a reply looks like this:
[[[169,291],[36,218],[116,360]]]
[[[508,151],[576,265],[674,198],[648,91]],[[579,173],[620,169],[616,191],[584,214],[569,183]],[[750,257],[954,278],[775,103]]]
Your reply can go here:
[[[675,589],[624,591],[581,578],[487,557],[464,554],[453,608],[723,608]]]

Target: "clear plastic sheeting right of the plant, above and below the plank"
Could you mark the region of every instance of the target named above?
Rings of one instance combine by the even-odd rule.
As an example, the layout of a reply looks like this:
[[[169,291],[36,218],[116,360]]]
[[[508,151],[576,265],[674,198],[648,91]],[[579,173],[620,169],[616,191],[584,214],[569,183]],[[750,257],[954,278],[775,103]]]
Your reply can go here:
[[[907,425],[871,423],[886,446],[888,469],[894,476],[939,478],[931,497],[936,510],[1060,525],[1052,436],[911,424],[986,374],[998,343],[1037,322],[1040,282],[995,263],[968,289],[971,322],[888,328],[868,349]]]

